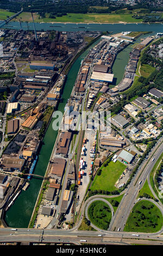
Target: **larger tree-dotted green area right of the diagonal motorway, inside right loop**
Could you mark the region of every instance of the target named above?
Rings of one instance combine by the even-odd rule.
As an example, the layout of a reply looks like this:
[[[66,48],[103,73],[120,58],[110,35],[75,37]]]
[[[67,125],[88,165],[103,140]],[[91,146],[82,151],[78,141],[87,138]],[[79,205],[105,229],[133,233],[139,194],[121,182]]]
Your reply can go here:
[[[142,200],[134,205],[123,231],[155,233],[162,228],[163,217],[151,202]]]

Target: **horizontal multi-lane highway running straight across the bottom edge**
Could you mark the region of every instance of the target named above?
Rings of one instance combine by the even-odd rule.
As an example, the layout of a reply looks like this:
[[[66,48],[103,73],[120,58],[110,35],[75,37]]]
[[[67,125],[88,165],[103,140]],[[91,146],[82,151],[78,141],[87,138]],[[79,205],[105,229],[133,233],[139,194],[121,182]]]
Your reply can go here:
[[[29,230],[29,231],[28,231]],[[10,235],[12,234],[12,235]],[[98,236],[101,234],[102,236]],[[149,240],[150,239],[152,240]],[[130,244],[143,243],[148,245],[162,245],[163,236],[158,234],[140,233],[139,240],[133,233],[117,231],[72,231],[60,229],[0,229],[0,242],[56,242],[80,244],[86,240],[95,244]]]

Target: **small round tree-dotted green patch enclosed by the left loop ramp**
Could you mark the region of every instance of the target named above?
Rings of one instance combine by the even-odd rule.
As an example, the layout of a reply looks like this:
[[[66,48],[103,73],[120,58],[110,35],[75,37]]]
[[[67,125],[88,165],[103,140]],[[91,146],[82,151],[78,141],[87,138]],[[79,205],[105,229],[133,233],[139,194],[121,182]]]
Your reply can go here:
[[[102,201],[94,201],[88,209],[90,221],[98,228],[107,230],[111,221],[111,209]]]

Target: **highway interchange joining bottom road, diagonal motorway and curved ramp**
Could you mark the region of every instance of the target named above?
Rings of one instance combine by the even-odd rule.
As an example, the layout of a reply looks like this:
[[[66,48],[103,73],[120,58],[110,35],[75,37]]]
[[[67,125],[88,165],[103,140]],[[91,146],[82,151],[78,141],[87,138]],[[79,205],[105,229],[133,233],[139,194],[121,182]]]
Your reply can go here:
[[[143,243],[147,245],[162,245],[163,244],[163,227],[157,233],[136,233],[139,237],[134,237],[133,233],[123,232],[124,225],[127,222],[128,216],[134,204],[137,202],[137,194],[142,188],[146,179],[148,178],[154,164],[159,159],[163,151],[162,138],[159,139],[151,153],[149,160],[144,161],[141,168],[137,171],[134,178],[131,180],[128,188],[124,191],[126,196],[123,196],[120,205],[116,211],[115,216],[112,218],[109,230],[100,230],[96,227],[97,231],[79,231],[78,227],[82,223],[85,207],[92,198],[98,198],[99,195],[89,198],[83,205],[79,221],[77,225],[70,230],[61,229],[27,229],[21,228],[11,230],[11,228],[0,229],[0,242],[36,242],[36,243],[74,243],[80,244],[80,240],[84,239],[86,242],[95,244],[121,244],[129,245],[134,243]],[[154,157],[154,161],[152,161]],[[139,181],[142,181],[139,184]],[[106,197],[106,196],[105,196]],[[160,201],[154,202],[163,214],[163,209]],[[123,217],[123,218],[122,218]],[[120,228],[120,231],[117,231]],[[114,230],[114,231],[113,231]],[[12,235],[11,235],[12,234]],[[102,234],[102,236],[98,236]],[[139,240],[138,240],[139,239]]]

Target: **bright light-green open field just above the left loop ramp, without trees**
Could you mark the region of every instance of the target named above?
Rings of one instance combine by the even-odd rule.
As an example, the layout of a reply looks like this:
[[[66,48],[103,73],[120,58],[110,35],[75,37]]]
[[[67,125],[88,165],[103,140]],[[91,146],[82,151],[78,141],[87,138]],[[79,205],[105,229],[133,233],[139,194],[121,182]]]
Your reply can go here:
[[[96,175],[93,180],[91,190],[116,190],[114,185],[125,169],[126,165],[123,163],[119,161],[114,163],[111,161],[108,166],[102,168],[101,175]]]

